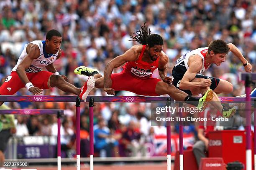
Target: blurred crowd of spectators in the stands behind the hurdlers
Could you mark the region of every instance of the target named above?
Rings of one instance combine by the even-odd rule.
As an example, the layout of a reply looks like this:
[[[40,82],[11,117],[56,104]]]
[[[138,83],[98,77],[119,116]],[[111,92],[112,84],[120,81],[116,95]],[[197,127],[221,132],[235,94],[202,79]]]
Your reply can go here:
[[[164,39],[164,52],[169,56],[168,75],[174,63],[185,52],[206,47],[211,40],[233,43],[243,56],[256,66],[256,1],[255,0],[0,0],[0,79],[10,75],[25,44],[45,40],[46,32],[62,34],[62,57],[54,62],[61,75],[81,87],[87,77],[74,75],[74,68],[95,67],[103,74],[105,64],[137,43],[130,35],[146,22],[151,33]],[[113,72],[120,72],[121,67]],[[230,81],[234,97],[244,93],[239,73],[244,68],[231,52],[220,66],[212,65],[205,75]],[[154,77],[159,77],[154,72]],[[160,77],[159,77],[160,78]],[[31,95],[22,89],[17,95]],[[44,90],[44,95],[72,95],[56,88]],[[90,95],[107,95],[94,89]],[[134,95],[119,92],[118,95]],[[13,103],[11,108],[60,108],[62,145],[75,147],[74,103]],[[95,114],[95,149],[99,156],[145,155],[145,141],[152,135],[164,135],[164,127],[150,126],[150,108],[144,103],[97,103]],[[88,154],[88,103],[81,107],[81,153]],[[55,116],[16,116],[17,136],[56,135]],[[184,128],[196,132],[193,126]],[[175,133],[176,128],[172,129]],[[105,133],[98,138],[97,133]],[[166,135],[166,134],[165,134]],[[64,149],[65,150],[65,149]],[[102,151],[103,150],[103,151]],[[114,152],[113,152],[114,150]],[[120,151],[123,150],[123,153]]]

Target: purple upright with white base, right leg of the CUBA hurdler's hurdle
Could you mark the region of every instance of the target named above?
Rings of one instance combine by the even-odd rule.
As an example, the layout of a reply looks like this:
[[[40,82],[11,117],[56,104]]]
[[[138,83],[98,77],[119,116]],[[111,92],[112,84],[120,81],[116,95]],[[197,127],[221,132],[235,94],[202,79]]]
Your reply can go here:
[[[80,104],[81,104],[81,99],[80,97],[77,97],[76,101],[76,119],[77,119],[77,170],[80,170],[80,165],[81,165],[81,157],[80,157],[80,143],[81,143],[81,138],[80,138]]]

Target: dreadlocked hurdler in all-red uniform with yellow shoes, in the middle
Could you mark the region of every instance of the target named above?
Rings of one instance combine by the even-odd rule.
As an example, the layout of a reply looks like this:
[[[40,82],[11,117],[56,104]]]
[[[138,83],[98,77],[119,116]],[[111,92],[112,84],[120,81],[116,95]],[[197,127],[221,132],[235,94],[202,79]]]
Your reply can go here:
[[[168,56],[163,50],[163,39],[158,34],[150,34],[146,25],[132,36],[141,45],[134,45],[123,55],[115,57],[105,67],[104,77],[99,71],[89,67],[80,66],[74,73],[93,76],[95,87],[104,88],[105,92],[115,95],[115,91],[126,90],[138,95],[170,95],[174,100],[192,102],[197,107],[205,108],[207,101],[212,100],[212,90],[207,90],[202,98],[196,99],[174,87],[172,78],[167,77]],[[113,73],[114,68],[123,65],[123,71]],[[162,80],[153,78],[152,73],[158,69]],[[190,103],[189,102],[189,103]]]

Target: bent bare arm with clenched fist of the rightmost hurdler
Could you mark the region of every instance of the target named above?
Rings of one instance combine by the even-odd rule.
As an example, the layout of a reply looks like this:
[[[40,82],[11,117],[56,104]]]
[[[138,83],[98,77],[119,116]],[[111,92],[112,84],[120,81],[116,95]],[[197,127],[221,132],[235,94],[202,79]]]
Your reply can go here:
[[[211,85],[210,79],[205,79],[201,82],[191,82],[202,68],[202,58],[199,55],[192,55],[189,60],[189,68],[183,75],[179,88],[189,90],[196,87],[209,87]]]

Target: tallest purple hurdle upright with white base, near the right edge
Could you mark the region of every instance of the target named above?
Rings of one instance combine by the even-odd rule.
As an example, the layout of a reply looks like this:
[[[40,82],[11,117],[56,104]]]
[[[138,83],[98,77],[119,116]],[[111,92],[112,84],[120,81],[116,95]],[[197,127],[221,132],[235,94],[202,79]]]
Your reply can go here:
[[[246,170],[252,170],[251,158],[251,75],[246,75]]]

